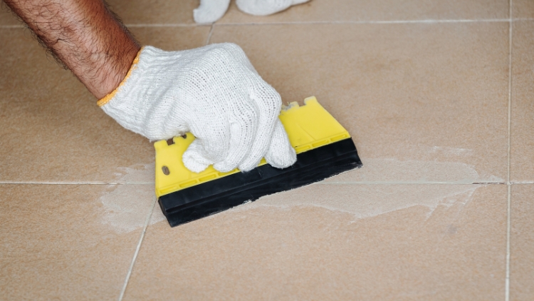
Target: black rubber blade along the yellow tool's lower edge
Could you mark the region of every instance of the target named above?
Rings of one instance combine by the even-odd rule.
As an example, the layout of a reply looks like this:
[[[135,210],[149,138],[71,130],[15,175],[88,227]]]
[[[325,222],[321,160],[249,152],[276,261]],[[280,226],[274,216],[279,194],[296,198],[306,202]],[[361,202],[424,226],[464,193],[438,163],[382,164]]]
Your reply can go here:
[[[347,170],[360,168],[352,139],[321,146],[297,155],[284,169],[261,165],[246,173],[234,173],[159,197],[159,206],[171,227],[227,210],[263,195],[298,188]]]

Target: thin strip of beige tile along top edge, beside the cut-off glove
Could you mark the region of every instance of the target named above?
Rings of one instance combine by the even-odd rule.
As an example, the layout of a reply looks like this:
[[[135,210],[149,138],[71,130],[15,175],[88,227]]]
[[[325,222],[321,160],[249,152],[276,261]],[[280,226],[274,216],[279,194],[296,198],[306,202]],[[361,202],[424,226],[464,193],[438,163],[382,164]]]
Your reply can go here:
[[[505,19],[508,11],[506,0],[311,0],[271,16],[250,16],[232,2],[218,23]]]

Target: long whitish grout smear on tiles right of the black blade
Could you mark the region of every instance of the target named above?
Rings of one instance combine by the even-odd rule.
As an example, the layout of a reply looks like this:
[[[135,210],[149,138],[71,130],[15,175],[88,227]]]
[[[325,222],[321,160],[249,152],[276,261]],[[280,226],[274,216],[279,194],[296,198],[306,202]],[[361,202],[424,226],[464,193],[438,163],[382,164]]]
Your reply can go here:
[[[256,202],[233,208],[230,213],[265,207],[287,209],[313,206],[350,213],[357,220],[424,206],[428,209],[429,217],[439,206],[465,205],[471,200],[475,190],[483,186],[470,184],[477,183],[480,178],[476,170],[464,163],[375,159],[372,164],[367,164],[370,161],[365,160],[364,168],[351,173],[365,173],[367,166],[375,165],[375,171],[382,170],[382,178],[392,176],[392,179],[400,177],[402,180],[389,183],[373,182],[372,180],[378,178],[372,177],[373,179],[367,182],[351,183],[350,178],[353,177],[350,173],[345,173],[331,178],[330,182],[316,183],[314,188],[298,188],[288,193],[268,195]],[[458,184],[425,183],[442,173],[454,173]],[[338,177],[343,180],[337,179]],[[414,182],[414,179],[417,181]]]

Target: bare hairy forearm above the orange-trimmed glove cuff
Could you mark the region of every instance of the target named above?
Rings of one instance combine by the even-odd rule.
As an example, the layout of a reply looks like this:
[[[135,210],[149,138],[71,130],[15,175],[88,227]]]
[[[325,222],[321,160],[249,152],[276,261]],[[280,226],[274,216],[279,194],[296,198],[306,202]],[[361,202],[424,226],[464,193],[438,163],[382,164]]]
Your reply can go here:
[[[4,0],[97,98],[113,91],[140,49],[103,0]]]

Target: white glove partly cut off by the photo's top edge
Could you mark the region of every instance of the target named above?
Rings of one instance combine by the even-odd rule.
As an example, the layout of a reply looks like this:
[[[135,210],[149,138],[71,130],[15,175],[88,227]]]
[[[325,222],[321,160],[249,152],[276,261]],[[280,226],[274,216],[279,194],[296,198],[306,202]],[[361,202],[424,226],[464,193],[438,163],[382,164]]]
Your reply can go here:
[[[310,0],[236,0],[237,7],[247,14],[266,16],[278,13],[296,4]],[[226,13],[230,0],[200,0],[200,6],[193,11],[197,23],[213,23]]]

